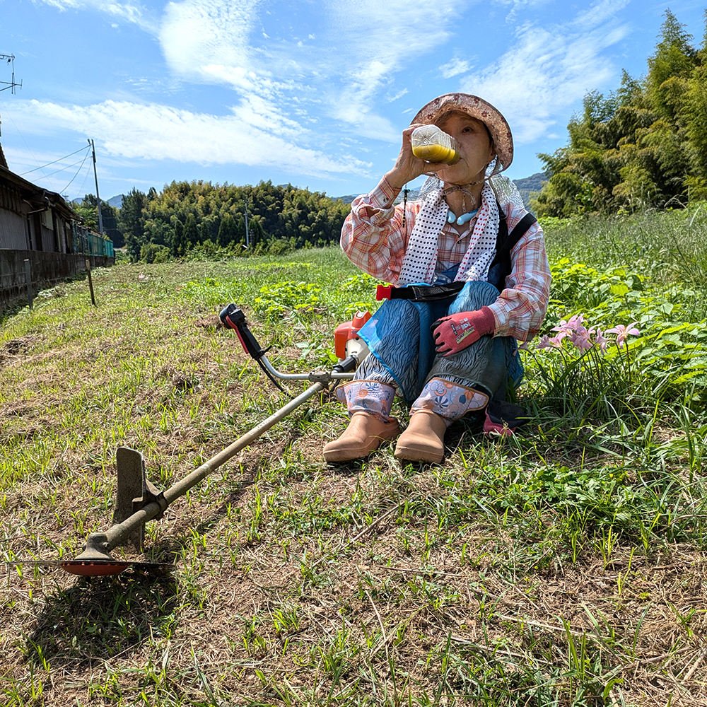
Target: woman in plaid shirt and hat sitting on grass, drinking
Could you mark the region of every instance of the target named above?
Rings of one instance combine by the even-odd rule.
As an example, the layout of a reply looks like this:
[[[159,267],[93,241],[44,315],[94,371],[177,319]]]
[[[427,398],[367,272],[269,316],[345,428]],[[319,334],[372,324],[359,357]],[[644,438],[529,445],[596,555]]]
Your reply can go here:
[[[411,134],[421,124],[451,135],[460,159],[416,158]],[[542,325],[550,271],[542,229],[497,176],[511,160],[513,138],[496,108],[474,95],[442,95],[404,129],[392,170],[351,204],[341,247],[396,288],[358,332],[370,354],[337,388],[351,420],[325,445],[327,461],[365,457],[399,436],[399,459],[440,462],[446,429],[469,411],[485,411],[486,432],[518,424],[505,403],[522,378],[515,339]],[[423,174],[431,175],[426,194],[394,206]],[[429,287],[411,287],[419,284]],[[402,434],[390,417],[396,393],[412,405]]]

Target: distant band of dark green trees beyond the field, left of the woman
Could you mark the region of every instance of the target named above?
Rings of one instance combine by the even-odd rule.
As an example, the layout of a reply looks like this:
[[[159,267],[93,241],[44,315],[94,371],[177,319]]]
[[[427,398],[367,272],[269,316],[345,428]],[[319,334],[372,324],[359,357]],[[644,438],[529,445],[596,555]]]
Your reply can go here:
[[[95,197],[87,194],[80,212],[81,206],[93,209],[95,221]],[[338,242],[350,210],[349,204],[321,192],[269,181],[255,187],[175,181],[162,192],[132,189],[119,210],[101,201],[106,233],[115,214],[118,238],[124,239],[130,258],[150,262],[195,249],[245,252],[246,243],[252,252],[278,253]]]

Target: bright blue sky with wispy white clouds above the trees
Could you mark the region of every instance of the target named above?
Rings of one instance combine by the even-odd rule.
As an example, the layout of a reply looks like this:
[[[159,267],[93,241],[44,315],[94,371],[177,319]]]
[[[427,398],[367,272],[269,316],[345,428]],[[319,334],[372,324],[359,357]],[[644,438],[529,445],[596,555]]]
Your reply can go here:
[[[506,115],[518,179],[566,143],[588,90],[645,73],[666,6],[0,0],[0,54],[23,81],[0,91],[0,144],[13,172],[71,199],[95,189],[88,138],[104,199],[172,180],[358,194],[395,162],[416,111],[462,90]],[[699,45],[705,4],[670,9]]]

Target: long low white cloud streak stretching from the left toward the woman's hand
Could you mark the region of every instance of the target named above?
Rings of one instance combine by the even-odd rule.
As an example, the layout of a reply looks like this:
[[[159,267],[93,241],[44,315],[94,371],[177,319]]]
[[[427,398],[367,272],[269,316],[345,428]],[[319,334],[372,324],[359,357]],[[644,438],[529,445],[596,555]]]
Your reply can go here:
[[[62,106],[37,100],[16,103],[25,129],[51,134],[69,129],[95,135],[112,156],[130,160],[177,160],[199,164],[272,165],[303,175],[366,174],[370,166],[344,156],[334,160],[302,144],[244,122],[157,104],[107,100]]]

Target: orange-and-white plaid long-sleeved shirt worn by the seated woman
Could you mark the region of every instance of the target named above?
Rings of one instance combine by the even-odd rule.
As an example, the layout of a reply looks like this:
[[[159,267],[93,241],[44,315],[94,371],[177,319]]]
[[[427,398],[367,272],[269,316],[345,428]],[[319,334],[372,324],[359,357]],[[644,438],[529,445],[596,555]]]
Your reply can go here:
[[[361,194],[351,204],[341,229],[341,248],[347,257],[363,271],[379,280],[397,284],[409,234],[421,201],[409,201],[402,226],[403,205],[393,206],[399,194],[385,180],[370,194]],[[506,204],[508,230],[527,213],[513,204]],[[460,263],[469,247],[475,220],[472,219],[461,235],[445,223],[439,235],[438,269]],[[542,326],[550,296],[550,266],[545,253],[542,228],[534,223],[510,252],[511,273],[506,288],[490,305],[496,320],[496,336],[532,339]]]

